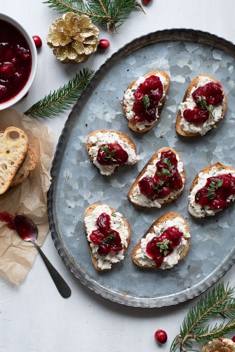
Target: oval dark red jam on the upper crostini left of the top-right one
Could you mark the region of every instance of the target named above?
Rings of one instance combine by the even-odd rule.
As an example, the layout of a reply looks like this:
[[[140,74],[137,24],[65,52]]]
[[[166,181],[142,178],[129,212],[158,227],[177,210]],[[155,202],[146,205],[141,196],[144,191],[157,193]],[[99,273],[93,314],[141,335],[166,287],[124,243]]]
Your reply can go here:
[[[134,92],[135,102],[132,107],[135,115],[132,121],[153,122],[156,120],[156,109],[163,97],[163,84],[159,77],[150,76]]]

